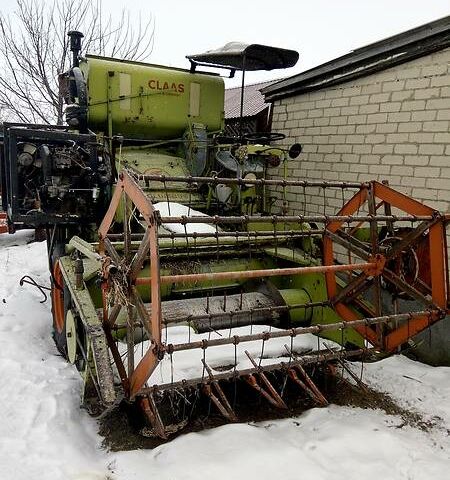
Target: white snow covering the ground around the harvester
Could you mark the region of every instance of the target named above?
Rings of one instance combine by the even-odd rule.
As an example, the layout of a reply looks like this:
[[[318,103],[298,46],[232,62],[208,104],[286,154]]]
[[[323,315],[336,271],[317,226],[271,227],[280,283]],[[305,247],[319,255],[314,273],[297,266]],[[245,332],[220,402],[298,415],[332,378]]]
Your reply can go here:
[[[450,470],[450,368],[394,357],[364,366],[365,381],[434,427],[381,411],[330,406],[296,418],[226,425],[154,450],[101,448],[80,410],[80,380],[51,339],[49,302],[19,286],[48,285],[45,244],[0,236],[0,479],[445,479]],[[358,365],[355,366],[358,369]]]

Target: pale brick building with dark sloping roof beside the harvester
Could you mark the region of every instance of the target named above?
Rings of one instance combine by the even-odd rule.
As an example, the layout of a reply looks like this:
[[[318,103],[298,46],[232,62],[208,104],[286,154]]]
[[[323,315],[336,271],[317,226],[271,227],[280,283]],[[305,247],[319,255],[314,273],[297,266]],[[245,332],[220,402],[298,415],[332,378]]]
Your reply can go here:
[[[262,93],[273,102],[272,131],[286,135],[286,146],[299,142],[304,147],[287,164],[289,178],[387,180],[450,212],[450,16],[352,51]],[[344,199],[324,192],[285,192],[290,213],[336,212]],[[449,328],[447,318],[423,334],[419,357],[450,365]]]

